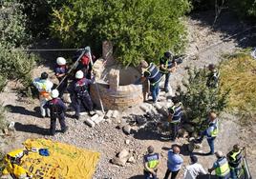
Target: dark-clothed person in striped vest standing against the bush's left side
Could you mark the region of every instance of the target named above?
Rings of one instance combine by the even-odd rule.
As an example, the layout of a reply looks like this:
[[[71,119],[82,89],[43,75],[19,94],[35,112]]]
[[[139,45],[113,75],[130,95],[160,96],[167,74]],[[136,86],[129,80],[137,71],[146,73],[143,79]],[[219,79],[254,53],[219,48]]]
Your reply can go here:
[[[169,115],[168,115],[168,121],[170,122],[171,129],[172,129],[172,136],[171,140],[175,141],[177,135],[178,135],[178,130],[181,124],[181,117],[182,117],[182,104],[179,102],[177,97],[173,97],[173,106],[168,109]]]

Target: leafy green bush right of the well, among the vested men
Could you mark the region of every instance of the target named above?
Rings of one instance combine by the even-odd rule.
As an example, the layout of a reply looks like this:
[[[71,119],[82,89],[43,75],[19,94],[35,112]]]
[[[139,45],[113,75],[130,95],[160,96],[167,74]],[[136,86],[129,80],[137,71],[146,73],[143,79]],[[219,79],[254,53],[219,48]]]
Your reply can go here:
[[[206,87],[207,70],[188,70],[188,80],[183,81],[177,89],[181,103],[186,111],[189,121],[201,124],[210,110],[223,111],[227,105],[229,89],[224,92],[221,89]]]

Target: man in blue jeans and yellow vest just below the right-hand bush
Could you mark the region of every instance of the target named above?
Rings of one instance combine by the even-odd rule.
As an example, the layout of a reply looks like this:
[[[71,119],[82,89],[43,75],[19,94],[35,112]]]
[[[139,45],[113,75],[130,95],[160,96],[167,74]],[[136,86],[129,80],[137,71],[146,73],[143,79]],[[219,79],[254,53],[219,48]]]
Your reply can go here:
[[[202,132],[201,137],[199,139],[197,139],[195,142],[202,143],[203,137],[206,136],[208,145],[210,147],[210,151],[206,154],[211,155],[211,154],[214,154],[214,140],[216,139],[216,137],[218,135],[219,127],[218,127],[217,114],[215,112],[210,111],[208,114],[208,118],[210,121],[208,128]]]

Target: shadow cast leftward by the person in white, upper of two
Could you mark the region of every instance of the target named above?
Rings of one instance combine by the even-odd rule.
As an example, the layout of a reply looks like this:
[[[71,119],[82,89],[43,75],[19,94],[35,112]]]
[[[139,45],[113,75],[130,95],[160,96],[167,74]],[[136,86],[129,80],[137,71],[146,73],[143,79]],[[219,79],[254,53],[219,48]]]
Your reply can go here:
[[[40,112],[39,112],[40,109],[38,107],[34,108],[33,111],[25,109],[24,107],[13,106],[13,105],[7,105],[6,108],[8,108],[9,111],[12,113],[19,113],[19,114],[23,114],[23,115],[40,117]]]

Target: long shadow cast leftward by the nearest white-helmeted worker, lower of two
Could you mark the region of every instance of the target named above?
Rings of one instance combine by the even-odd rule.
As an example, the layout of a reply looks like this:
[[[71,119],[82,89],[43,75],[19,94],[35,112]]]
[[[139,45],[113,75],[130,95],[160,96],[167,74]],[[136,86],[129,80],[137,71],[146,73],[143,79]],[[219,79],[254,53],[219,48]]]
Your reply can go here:
[[[38,127],[36,125],[23,125],[19,122],[15,123],[14,128],[17,131],[37,133],[37,134],[40,134],[40,135],[49,135],[50,134],[49,129],[44,129],[44,128]]]

